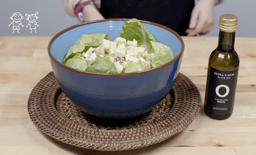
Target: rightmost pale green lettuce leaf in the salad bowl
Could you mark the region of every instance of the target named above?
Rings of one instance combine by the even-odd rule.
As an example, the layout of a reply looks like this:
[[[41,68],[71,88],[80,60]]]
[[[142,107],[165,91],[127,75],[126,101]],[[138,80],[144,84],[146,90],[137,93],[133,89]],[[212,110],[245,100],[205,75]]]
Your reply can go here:
[[[157,42],[151,42],[151,45],[151,54],[154,53],[154,58],[151,60],[152,68],[161,66],[173,59],[172,50],[168,46]]]

